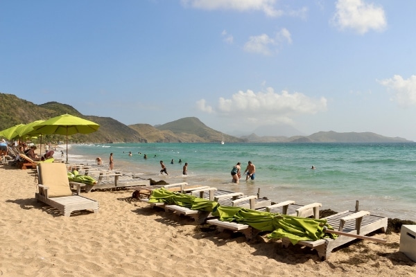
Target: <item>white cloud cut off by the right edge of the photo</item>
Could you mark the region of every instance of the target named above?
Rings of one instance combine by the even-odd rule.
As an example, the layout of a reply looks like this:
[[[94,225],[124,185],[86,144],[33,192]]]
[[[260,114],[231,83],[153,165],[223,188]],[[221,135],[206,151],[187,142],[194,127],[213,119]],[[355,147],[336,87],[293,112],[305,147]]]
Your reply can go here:
[[[391,79],[379,82],[394,91],[394,100],[399,105],[404,107],[416,105],[416,75],[410,76],[407,80],[400,75],[394,75]]]

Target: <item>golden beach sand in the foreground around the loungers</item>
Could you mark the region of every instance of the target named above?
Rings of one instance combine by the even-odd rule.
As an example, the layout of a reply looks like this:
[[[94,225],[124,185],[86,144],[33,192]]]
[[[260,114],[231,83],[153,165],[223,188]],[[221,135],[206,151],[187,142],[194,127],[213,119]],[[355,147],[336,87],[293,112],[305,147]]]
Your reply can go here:
[[[132,190],[82,193],[98,200],[98,213],[64,217],[35,200],[33,170],[0,166],[0,180],[0,276],[416,276],[397,233],[321,262],[311,249],[283,249],[264,235],[246,242],[207,231],[131,199]]]

